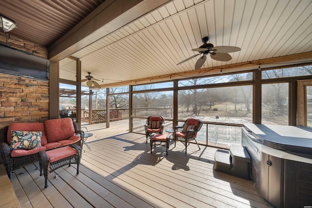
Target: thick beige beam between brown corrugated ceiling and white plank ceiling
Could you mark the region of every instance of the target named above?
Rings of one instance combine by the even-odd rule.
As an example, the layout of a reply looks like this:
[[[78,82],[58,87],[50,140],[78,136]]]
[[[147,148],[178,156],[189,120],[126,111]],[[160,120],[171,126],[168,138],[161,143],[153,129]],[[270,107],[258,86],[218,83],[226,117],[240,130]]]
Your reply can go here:
[[[59,61],[172,0],[105,0],[48,49]]]

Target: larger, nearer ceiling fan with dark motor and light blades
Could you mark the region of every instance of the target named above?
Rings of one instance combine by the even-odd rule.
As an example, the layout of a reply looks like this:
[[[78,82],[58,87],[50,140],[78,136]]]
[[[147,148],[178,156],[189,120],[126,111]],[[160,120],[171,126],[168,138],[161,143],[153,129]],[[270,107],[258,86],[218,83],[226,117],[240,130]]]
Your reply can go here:
[[[192,58],[203,54],[202,57],[200,57],[196,63],[195,63],[195,70],[200,69],[200,67],[205,63],[206,59],[207,59],[207,55],[210,54],[210,57],[212,59],[215,59],[217,61],[229,61],[232,59],[231,55],[228,53],[233,53],[233,52],[237,52],[240,51],[240,48],[238,47],[234,47],[234,46],[215,46],[211,43],[207,43],[209,40],[208,37],[204,37],[202,38],[202,42],[204,43],[203,45],[199,46],[199,48],[194,48],[192,49],[192,51],[198,51],[199,54],[196,54],[192,57],[189,57],[183,61],[181,61],[180,63],[176,64],[179,65],[185,61],[191,60]]]

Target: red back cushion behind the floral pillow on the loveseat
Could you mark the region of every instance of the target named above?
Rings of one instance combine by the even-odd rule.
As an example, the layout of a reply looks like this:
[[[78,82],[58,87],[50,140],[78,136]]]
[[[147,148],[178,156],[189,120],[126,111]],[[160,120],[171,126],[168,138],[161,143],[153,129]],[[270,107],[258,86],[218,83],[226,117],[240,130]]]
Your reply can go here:
[[[47,144],[47,135],[44,130],[44,123],[13,123],[9,126],[6,141],[10,145],[12,134],[11,131],[27,131],[27,132],[42,132],[41,145]],[[75,130],[74,130],[75,131]]]

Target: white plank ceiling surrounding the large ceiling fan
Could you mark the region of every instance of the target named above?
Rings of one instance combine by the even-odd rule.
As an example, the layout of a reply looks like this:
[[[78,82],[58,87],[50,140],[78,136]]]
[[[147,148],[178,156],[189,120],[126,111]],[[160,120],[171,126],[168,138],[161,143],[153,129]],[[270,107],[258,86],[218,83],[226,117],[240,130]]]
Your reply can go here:
[[[81,60],[81,77],[91,72],[99,84],[164,80],[194,70],[199,56],[176,64],[197,54],[191,49],[206,36],[241,51],[227,62],[208,56],[202,68],[311,52],[312,0],[173,0],[72,57]]]

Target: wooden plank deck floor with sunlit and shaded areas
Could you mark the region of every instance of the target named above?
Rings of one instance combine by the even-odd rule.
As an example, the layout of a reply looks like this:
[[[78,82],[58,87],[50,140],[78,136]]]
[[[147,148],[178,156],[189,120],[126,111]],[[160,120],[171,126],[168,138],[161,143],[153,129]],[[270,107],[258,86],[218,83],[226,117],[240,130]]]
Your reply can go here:
[[[76,175],[76,165],[60,168],[50,174],[46,189],[38,163],[16,170],[12,184],[21,207],[270,207],[253,181],[213,170],[215,148],[197,151],[191,144],[185,154],[177,143],[168,156],[162,146],[151,154],[145,135],[117,127],[89,126],[92,151],[85,148],[80,173]]]

